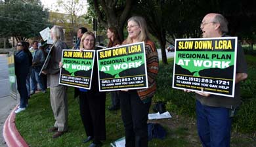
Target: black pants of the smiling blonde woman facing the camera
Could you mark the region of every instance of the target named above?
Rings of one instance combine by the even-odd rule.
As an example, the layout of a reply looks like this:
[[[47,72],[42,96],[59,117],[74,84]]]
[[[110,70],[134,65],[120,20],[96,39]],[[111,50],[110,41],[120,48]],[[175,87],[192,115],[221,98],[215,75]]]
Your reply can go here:
[[[87,137],[91,136],[96,141],[106,140],[106,93],[80,91],[79,101],[81,120]]]

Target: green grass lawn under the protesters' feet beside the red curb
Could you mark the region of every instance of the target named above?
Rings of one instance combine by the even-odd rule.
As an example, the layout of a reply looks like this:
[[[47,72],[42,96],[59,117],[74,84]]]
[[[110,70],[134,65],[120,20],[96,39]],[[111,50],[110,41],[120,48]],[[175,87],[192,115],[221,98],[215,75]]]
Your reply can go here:
[[[24,112],[16,115],[16,127],[29,146],[89,146],[90,143],[83,144],[81,141],[86,138],[85,130],[79,115],[79,101],[73,97],[73,88],[68,90],[68,133],[58,139],[52,139],[53,133],[48,133],[47,129],[53,126],[54,117],[50,105],[49,90],[47,93],[36,93],[29,100],[29,106]],[[124,136],[123,122],[121,122],[120,110],[110,112],[107,107],[110,105],[110,95],[106,101],[106,137],[104,146],[110,146],[110,142]],[[171,122],[170,120],[165,120]],[[154,121],[152,121],[154,122]],[[153,139],[149,146],[188,146],[186,140],[186,129],[177,127],[167,129],[167,139]]]

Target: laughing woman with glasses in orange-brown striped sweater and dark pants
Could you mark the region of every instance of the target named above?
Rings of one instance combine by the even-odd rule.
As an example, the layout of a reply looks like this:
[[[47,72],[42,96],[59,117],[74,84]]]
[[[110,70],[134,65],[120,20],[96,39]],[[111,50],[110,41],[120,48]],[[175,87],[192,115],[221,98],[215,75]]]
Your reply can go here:
[[[148,28],[144,18],[133,16],[127,22],[128,37],[123,44],[145,42],[148,88],[120,91],[121,114],[125,125],[125,147],[146,147],[148,146],[148,111],[156,91],[158,52],[154,42],[148,38]]]

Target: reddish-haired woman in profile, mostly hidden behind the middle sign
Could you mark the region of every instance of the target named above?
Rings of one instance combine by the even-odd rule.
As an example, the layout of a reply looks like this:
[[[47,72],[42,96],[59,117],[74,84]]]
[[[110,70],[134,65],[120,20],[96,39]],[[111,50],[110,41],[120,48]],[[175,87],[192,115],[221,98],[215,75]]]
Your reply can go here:
[[[107,36],[109,39],[108,48],[121,44],[116,27],[108,27]],[[111,100],[112,106],[110,106],[108,109],[118,110],[120,108],[119,91],[111,91]]]

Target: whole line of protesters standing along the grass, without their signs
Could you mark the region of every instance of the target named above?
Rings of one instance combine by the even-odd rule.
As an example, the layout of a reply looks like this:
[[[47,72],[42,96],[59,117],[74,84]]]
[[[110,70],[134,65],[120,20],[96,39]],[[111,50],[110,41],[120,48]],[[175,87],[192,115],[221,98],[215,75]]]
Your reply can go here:
[[[203,37],[227,37],[228,22],[221,14],[207,14],[201,24]],[[146,71],[148,74],[148,88],[138,90],[112,91],[112,105],[109,110],[121,108],[121,119],[125,127],[125,147],[148,146],[148,112],[156,91],[156,77],[158,76],[158,52],[154,42],[149,38],[146,20],[141,16],[133,16],[127,21],[128,36],[121,42],[117,29],[108,27],[108,48],[132,44],[145,43]],[[51,107],[54,114],[54,125],[49,132],[54,132],[53,138],[58,138],[68,131],[68,97],[67,86],[60,85],[62,50],[68,46],[64,42],[62,27],[54,25],[51,29],[53,46],[48,53],[51,55],[49,63],[42,70],[47,75],[39,76],[45,61],[43,47],[39,42],[32,42],[32,54],[28,50],[28,42],[18,42],[15,54],[15,71],[17,76],[18,91],[20,93],[20,106],[15,111],[19,113],[26,110],[28,98],[35,93],[37,85],[45,93],[47,85],[50,88]],[[77,42],[74,50],[96,50],[95,34],[80,27],[77,31]],[[198,134],[203,146],[230,146],[230,128],[232,116],[230,112],[236,110],[240,103],[239,82],[247,78],[247,68],[244,52],[238,46],[238,63],[236,65],[236,94],[234,99],[209,95],[205,92],[196,92],[196,114]],[[93,71],[97,71],[97,57]],[[87,139],[84,143],[92,141],[89,147],[102,146],[102,140],[106,139],[105,103],[106,93],[98,89],[98,73],[93,72],[90,90],[75,88],[75,97],[79,96],[79,108]],[[27,85],[27,86],[26,86]],[[26,89],[27,88],[27,89]],[[184,90],[190,92],[190,90]]]

